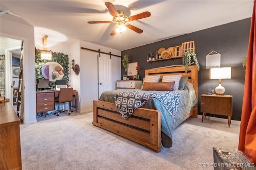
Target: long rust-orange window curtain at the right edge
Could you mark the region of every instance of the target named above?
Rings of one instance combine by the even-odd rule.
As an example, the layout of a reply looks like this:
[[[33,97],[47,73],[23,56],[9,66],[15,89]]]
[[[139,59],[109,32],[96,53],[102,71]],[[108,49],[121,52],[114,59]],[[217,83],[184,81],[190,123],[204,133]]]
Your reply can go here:
[[[246,61],[244,81],[244,97],[239,134],[238,149],[254,164],[256,164],[256,13],[255,3],[252,12],[252,22]]]

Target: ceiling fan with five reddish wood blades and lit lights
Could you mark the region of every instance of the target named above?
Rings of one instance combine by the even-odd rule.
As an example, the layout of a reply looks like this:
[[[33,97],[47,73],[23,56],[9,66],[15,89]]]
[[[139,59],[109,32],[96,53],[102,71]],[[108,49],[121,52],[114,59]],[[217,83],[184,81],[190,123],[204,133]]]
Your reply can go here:
[[[116,32],[124,32],[126,27],[137,32],[138,34],[142,33],[143,30],[141,30],[140,28],[137,28],[131,24],[128,24],[128,22],[134,21],[134,20],[139,20],[142,18],[147,18],[151,15],[150,12],[146,11],[146,12],[142,12],[140,14],[134,15],[134,16],[127,17],[126,15],[124,15],[124,11],[116,10],[116,8],[114,7],[114,5],[112,3],[105,2],[105,5],[108,8],[110,14],[113,16],[113,20],[112,21],[89,21],[88,24],[116,23],[116,26],[112,30],[110,36],[114,36],[116,34]]]

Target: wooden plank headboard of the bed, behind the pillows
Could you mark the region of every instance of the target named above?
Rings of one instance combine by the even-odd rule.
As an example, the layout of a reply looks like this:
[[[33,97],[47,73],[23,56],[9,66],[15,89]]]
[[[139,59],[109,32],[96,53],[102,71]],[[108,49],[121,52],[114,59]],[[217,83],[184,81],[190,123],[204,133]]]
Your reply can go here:
[[[176,75],[181,74],[182,77],[188,77],[188,81],[193,84],[195,92],[196,92],[196,99],[197,99],[197,67],[196,65],[188,66],[188,73],[185,73],[185,66],[180,67],[167,67],[167,68],[156,68],[156,69],[148,69],[145,70],[145,75],[160,75],[162,78],[163,75]]]

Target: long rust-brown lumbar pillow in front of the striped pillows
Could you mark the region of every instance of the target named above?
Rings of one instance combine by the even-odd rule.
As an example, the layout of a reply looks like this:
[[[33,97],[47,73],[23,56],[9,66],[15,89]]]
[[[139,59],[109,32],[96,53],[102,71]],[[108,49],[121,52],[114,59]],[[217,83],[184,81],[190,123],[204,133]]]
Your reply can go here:
[[[144,82],[142,90],[173,91],[175,81],[148,83]]]

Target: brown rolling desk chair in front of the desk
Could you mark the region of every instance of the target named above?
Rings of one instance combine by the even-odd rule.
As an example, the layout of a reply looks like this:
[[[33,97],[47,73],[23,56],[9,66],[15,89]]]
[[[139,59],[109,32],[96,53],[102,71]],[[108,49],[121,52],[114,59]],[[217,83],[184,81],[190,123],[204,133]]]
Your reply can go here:
[[[70,115],[70,109],[65,109],[65,103],[73,101],[73,88],[61,88],[59,92],[59,98],[56,99],[55,102],[59,103],[59,108],[60,108],[60,103],[62,103],[62,110],[56,111],[54,114],[57,113],[57,116],[59,116],[60,112],[68,111],[68,115]],[[73,112],[73,111],[71,111]]]

